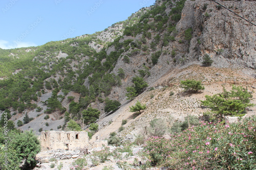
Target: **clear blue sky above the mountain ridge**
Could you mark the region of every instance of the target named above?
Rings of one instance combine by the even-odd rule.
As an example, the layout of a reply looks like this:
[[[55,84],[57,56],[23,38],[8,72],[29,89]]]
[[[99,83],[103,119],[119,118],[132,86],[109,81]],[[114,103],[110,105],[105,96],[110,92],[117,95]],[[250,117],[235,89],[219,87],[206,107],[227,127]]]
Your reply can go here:
[[[0,48],[38,46],[102,31],[155,0],[1,0]],[[94,8],[94,9],[93,9]]]

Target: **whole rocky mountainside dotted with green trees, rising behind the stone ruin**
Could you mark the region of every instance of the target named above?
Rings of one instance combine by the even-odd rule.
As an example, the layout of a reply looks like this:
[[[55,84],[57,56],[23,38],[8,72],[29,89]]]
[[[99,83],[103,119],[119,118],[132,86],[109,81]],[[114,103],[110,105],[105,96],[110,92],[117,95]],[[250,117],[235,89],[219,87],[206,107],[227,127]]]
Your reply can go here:
[[[256,10],[252,8],[255,2],[221,3],[255,22]],[[135,121],[147,122],[158,115],[183,109],[186,104],[199,106],[199,100],[210,92],[214,94],[216,86],[216,92],[221,90],[220,84],[254,85],[254,35],[255,27],[214,2],[156,1],[154,6],[142,8],[128,20],[102,32],[29,49],[1,49],[0,66],[15,62],[17,67],[10,64],[8,70],[2,72],[0,109],[16,113],[11,118],[15,123],[28,113],[35,119],[20,128],[33,128],[39,134],[39,128],[57,130],[63,126],[65,111],[82,124],[83,109],[89,105],[97,108],[102,118],[106,114],[105,101],[118,100],[122,104],[120,109],[100,119],[106,121],[103,124],[98,122],[100,128],[105,126],[105,131],[95,135],[102,133],[107,137],[121,126],[122,119],[132,120],[137,116],[128,112],[136,100],[146,103],[147,109]],[[205,54],[214,61],[211,67],[200,67]],[[157,85],[169,88],[146,90],[130,102],[126,100],[126,88],[133,85],[135,76],[143,77],[148,88]],[[185,79],[200,80],[209,88],[201,94],[184,94],[178,85]],[[170,91],[175,93],[171,98],[168,97]],[[185,99],[188,102],[184,103]],[[36,107],[43,110],[36,112]],[[201,109],[190,111],[196,115],[203,112]],[[183,110],[173,117],[184,119],[184,113]],[[50,114],[50,120],[43,119],[46,114]],[[109,121],[116,123],[108,125]],[[38,122],[41,125],[38,126]],[[45,126],[46,122],[49,126]],[[134,125],[128,128],[128,123],[120,135],[125,137],[132,128],[138,133]]]

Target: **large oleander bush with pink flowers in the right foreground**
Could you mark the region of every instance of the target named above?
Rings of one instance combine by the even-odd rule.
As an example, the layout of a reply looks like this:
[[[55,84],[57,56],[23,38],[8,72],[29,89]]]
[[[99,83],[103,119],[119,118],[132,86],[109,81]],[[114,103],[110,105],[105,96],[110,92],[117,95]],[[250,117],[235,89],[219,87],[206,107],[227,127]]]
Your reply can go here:
[[[150,138],[144,153],[151,156],[153,163],[164,167],[255,169],[255,130],[255,116],[231,124],[202,122],[173,134],[171,140]]]

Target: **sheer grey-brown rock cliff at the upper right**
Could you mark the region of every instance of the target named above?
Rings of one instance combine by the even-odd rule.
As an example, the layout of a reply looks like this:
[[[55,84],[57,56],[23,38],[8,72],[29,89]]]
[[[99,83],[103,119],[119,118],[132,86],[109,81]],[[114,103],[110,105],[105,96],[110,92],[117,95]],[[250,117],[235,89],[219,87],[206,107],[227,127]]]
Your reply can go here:
[[[256,2],[224,1],[221,4],[255,23]],[[204,10],[205,5],[207,8]],[[176,28],[182,36],[182,31],[189,27],[194,31],[189,48],[190,57],[200,60],[202,55],[210,54],[215,61],[214,66],[227,67],[238,64],[255,69],[254,25],[214,2],[196,0],[185,2],[182,18]],[[201,44],[197,43],[198,39]],[[198,48],[197,52],[194,48]]]

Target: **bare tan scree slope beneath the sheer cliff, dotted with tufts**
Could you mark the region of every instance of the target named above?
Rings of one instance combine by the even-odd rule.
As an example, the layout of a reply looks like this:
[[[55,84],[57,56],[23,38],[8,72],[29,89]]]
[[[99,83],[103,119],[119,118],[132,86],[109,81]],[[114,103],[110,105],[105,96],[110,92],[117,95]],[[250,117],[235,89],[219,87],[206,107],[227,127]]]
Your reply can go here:
[[[198,93],[185,92],[183,88],[179,87],[179,82],[186,79],[200,80],[204,84],[205,90]],[[165,84],[168,87],[149,91],[150,87],[158,84]],[[100,140],[104,140],[109,137],[111,132],[118,132],[123,119],[128,121],[119,136],[125,139],[142,134],[143,128],[149,126],[149,122],[154,118],[170,118],[173,122],[175,120],[184,121],[187,116],[186,107],[188,107],[188,114],[202,116],[209,109],[200,108],[200,100],[205,100],[205,95],[212,96],[221,93],[222,85],[227,90],[231,90],[232,85],[247,87],[253,98],[256,97],[253,88],[256,87],[256,81],[254,74],[248,68],[215,68],[191,65],[186,69],[175,69],[161,77],[157,82],[150,84],[147,90],[132,101],[123,100],[120,109],[100,119],[97,123],[102,128],[92,137],[91,142],[95,140],[96,136]],[[174,92],[172,96],[169,95],[171,91]],[[129,106],[134,105],[137,100],[147,106],[141,114],[129,112]],[[256,100],[253,99],[251,103],[256,104]],[[256,107],[249,108],[246,116],[255,114],[255,109]]]

